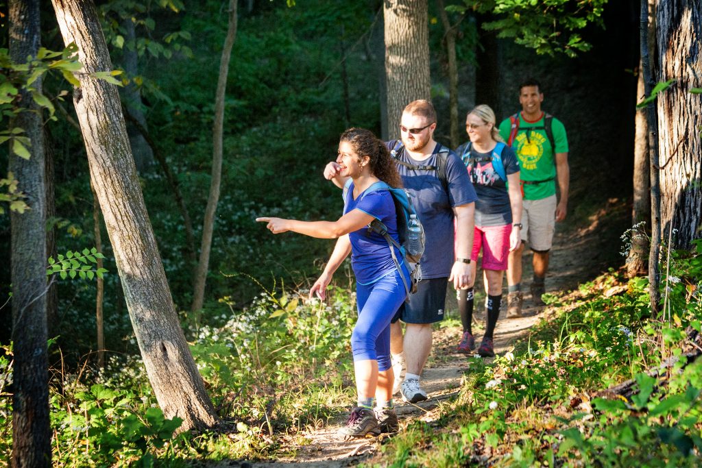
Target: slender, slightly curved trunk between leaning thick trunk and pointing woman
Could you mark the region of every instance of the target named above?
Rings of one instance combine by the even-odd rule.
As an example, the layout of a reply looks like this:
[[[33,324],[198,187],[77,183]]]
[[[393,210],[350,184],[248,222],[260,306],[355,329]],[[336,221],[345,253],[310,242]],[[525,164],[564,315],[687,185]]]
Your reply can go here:
[[[232,55],[234,39],[237,37],[237,1],[229,2],[229,27],[227,37],[222,49],[220,60],[220,73],[215,97],[215,120],[212,126],[212,180],[210,182],[210,195],[207,199],[205,216],[202,222],[202,243],[200,246],[200,260],[195,274],[195,290],[190,310],[202,309],[205,296],[205,283],[210,262],[210,249],[212,248],[212,232],[215,224],[215,212],[220,194],[222,180],[222,153],[223,153],[223,126],[224,126],[224,100],[227,91],[227,75],[229,74],[229,60]]]

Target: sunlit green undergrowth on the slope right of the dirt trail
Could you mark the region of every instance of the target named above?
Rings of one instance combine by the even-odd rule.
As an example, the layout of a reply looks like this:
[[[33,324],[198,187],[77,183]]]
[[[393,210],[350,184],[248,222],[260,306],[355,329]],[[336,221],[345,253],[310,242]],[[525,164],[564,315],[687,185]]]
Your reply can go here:
[[[702,359],[686,366],[682,353],[702,329],[702,241],[666,269],[665,321],[650,317],[642,278],[610,272],[553,297],[559,312],[529,342],[489,365],[469,359],[433,432],[417,439],[411,425],[392,439],[393,466],[698,466]],[[662,363],[673,363],[668,373]],[[600,393],[628,379],[630,396]]]

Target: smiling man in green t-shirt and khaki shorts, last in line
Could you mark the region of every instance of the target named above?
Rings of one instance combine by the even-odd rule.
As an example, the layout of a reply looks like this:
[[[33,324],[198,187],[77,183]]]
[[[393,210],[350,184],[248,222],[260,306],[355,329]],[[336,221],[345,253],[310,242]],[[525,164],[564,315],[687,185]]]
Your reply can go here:
[[[534,252],[531,296],[543,305],[544,278],[552,246],[555,221],[566,218],[568,208],[568,139],[563,123],[541,110],[543,92],[538,81],[519,86],[519,112],[500,124],[500,135],[519,158],[524,195],[522,246],[510,252],[507,270],[508,317],[522,316],[522,252],[524,243]],[[559,197],[556,197],[556,182]]]

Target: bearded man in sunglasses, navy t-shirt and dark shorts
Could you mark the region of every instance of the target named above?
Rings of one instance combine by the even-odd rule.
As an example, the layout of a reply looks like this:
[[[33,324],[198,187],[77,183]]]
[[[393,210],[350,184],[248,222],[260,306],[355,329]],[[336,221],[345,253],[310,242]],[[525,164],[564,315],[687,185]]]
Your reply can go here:
[[[426,234],[420,261],[422,281],[409,302],[400,306],[390,328],[393,394],[401,391],[402,399],[411,403],[427,399],[419,378],[431,352],[432,323],[444,318],[446,283],[463,289],[470,288],[474,281],[470,252],[477,196],[461,159],[434,140],[436,120],[431,102],[410,102],[402,112],[401,140],[385,143],[395,157],[404,188],[414,196],[413,204]],[[336,162],[330,162],[324,177],[343,187],[345,180],[339,169]],[[406,324],[404,338],[399,320]]]

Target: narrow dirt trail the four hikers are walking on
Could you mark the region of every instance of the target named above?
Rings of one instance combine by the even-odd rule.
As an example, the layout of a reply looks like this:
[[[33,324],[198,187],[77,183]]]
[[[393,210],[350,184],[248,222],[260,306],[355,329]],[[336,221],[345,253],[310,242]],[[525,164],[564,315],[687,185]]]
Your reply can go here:
[[[550,260],[550,272],[546,278],[546,292],[569,290],[582,281],[592,279],[604,265],[603,259],[597,252],[601,239],[597,235],[600,226],[593,220],[585,229],[571,232],[557,232],[554,239],[554,248]],[[528,249],[527,251],[528,252]],[[531,254],[524,256],[524,284],[527,286],[524,293],[524,316],[519,319],[505,319],[506,305],[503,303],[501,319],[495,332],[495,352],[504,354],[514,347],[515,342],[529,335],[534,323],[541,319],[544,308],[533,305],[529,294],[531,282]],[[476,290],[482,286],[478,283]],[[522,288],[525,289],[525,288]],[[450,301],[449,301],[450,302]],[[476,302],[477,304],[477,302]],[[447,305],[451,308],[451,304]],[[455,303],[453,304],[455,310]],[[476,308],[479,328],[476,331],[476,340],[482,338],[484,316],[481,307]],[[461,336],[458,327],[445,327],[435,329],[432,356],[422,375],[422,387],[429,395],[427,401],[418,404],[404,403],[395,398],[395,409],[400,420],[400,427],[406,426],[411,420],[424,420],[430,422],[438,417],[438,408],[442,401],[458,395],[461,387],[463,373],[468,369],[465,355],[455,352],[456,344]],[[335,421],[317,432],[306,434],[310,443],[296,448],[296,456],[287,460],[280,459],[276,462],[228,462],[218,464],[218,467],[348,467],[358,464],[367,455],[375,452],[380,443],[378,439],[363,441],[338,441],[336,431],[343,420]],[[402,429],[401,429],[402,430]],[[383,436],[381,436],[383,437]]]

